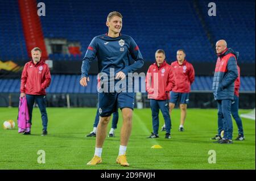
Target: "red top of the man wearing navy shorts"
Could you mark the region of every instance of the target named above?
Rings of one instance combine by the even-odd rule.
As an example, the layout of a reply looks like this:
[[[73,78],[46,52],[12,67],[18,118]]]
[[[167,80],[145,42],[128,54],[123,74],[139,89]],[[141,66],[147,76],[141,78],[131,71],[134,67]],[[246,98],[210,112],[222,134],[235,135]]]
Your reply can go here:
[[[191,90],[191,84],[195,81],[195,70],[187,60],[182,65],[178,61],[172,62],[172,71],[174,73],[175,87],[174,92],[188,93]]]

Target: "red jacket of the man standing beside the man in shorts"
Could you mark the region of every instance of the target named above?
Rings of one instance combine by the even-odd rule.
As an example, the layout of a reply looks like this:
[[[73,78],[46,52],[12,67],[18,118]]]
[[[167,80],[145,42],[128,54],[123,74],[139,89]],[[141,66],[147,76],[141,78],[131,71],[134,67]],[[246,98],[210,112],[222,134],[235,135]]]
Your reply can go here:
[[[159,67],[156,62],[147,70],[146,91],[148,99],[167,100],[170,99],[169,92],[174,87],[174,76],[171,65],[163,62]]]

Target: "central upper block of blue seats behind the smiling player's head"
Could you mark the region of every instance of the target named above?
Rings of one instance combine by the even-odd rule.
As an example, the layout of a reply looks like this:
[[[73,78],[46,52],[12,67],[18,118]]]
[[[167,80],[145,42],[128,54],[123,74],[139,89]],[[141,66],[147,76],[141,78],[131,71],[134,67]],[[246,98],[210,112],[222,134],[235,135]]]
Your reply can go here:
[[[176,50],[180,48],[186,50],[191,61],[212,61],[215,58],[207,35],[188,0],[138,1],[136,5],[132,2],[82,0],[65,3],[47,0],[44,3],[48,5],[48,16],[41,17],[44,36],[79,40],[82,54],[94,36],[107,31],[106,15],[116,9],[123,15],[122,32],[134,37],[145,60],[154,60],[155,50],[159,48],[166,49],[171,59],[176,58]],[[103,6],[104,9],[99,8]],[[88,7],[86,12],[84,7]],[[157,13],[155,7],[158,7]],[[62,12],[61,18],[58,10]]]

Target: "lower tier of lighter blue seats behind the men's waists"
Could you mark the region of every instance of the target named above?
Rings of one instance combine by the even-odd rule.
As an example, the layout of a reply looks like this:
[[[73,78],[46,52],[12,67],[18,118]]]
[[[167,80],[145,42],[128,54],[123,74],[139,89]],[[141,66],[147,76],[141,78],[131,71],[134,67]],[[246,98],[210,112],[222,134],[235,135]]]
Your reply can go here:
[[[88,87],[80,86],[80,75],[52,75],[48,93],[96,93],[97,77],[89,75]],[[212,91],[212,78],[209,76],[196,76],[192,84],[192,91]],[[144,79],[141,80],[144,86]],[[0,92],[19,92],[19,79],[0,79]],[[240,91],[255,91],[255,77],[241,77]]]

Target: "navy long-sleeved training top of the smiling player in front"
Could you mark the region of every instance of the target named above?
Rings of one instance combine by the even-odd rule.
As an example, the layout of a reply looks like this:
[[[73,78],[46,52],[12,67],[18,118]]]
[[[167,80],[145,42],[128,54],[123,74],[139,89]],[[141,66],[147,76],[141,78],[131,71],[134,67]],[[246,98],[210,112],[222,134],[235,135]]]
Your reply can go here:
[[[110,68],[114,68],[114,74],[122,71],[127,75],[144,64],[138,45],[132,37],[123,34],[114,38],[106,34],[94,37],[82,61],[81,78],[88,77],[90,64],[96,57],[98,73],[108,75],[110,75]],[[135,60],[133,64],[130,57]]]

